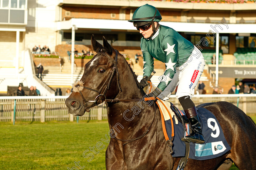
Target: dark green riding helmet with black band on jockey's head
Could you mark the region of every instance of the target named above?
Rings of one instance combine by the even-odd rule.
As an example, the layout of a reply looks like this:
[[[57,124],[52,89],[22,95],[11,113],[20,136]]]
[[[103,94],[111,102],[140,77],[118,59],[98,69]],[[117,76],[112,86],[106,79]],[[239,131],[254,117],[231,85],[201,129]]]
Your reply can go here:
[[[134,27],[146,25],[150,22],[161,21],[162,16],[160,12],[152,5],[142,5],[135,10],[133,13],[133,19],[129,22],[133,22]]]

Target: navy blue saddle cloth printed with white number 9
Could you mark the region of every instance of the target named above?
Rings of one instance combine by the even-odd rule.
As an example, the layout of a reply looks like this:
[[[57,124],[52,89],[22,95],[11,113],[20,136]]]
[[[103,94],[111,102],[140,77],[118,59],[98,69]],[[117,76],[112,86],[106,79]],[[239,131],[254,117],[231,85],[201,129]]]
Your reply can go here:
[[[189,158],[196,160],[206,160],[219,157],[231,148],[226,141],[222,128],[218,120],[205,108],[197,108],[197,113],[200,119],[202,134],[204,135],[205,142],[203,144],[195,144],[190,142]],[[182,113],[181,113],[182,114]],[[183,112],[184,114],[184,112]],[[174,117],[172,118],[174,122]],[[165,121],[165,128],[169,138],[172,138],[172,125],[171,120]],[[186,146],[180,139],[184,136],[183,125],[179,122],[178,125],[174,124],[174,139],[173,139],[173,153],[172,157],[184,157]]]

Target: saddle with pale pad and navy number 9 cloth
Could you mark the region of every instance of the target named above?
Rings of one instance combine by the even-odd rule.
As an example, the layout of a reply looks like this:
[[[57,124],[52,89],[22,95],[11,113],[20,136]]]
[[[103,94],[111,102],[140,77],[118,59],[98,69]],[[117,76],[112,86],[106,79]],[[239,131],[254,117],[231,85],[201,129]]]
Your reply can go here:
[[[193,142],[186,144],[181,141],[184,135],[190,133],[190,125],[185,113],[170,102],[158,99],[156,103],[161,111],[163,132],[172,157],[207,160],[219,157],[231,149],[218,120],[209,110],[202,107],[197,108],[205,142],[203,144]],[[161,106],[160,103],[165,106]],[[163,108],[169,113],[164,113],[165,109]],[[187,146],[190,148],[189,155],[186,153]]]

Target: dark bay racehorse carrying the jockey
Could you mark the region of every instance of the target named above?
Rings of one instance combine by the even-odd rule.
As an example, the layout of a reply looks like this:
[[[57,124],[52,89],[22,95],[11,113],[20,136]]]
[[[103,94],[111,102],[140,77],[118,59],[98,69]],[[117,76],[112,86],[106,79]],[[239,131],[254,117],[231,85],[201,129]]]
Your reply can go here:
[[[75,85],[75,90],[66,99],[69,113],[82,116],[91,107],[106,101],[109,128],[115,130],[110,135],[127,140],[138,138],[149,129],[146,135],[126,145],[111,138],[106,151],[106,169],[175,169],[180,158],[174,158],[168,152],[155,102],[125,101],[141,99],[145,95],[132,69],[104,37],[103,46],[94,36],[91,43],[98,53],[84,66],[80,84]],[[137,114],[132,111],[136,105],[143,108]],[[216,116],[231,150],[214,159],[189,159],[184,170],[228,170],[232,162],[240,170],[256,170],[256,126],[251,118],[228,102],[207,103],[198,107],[204,107]]]

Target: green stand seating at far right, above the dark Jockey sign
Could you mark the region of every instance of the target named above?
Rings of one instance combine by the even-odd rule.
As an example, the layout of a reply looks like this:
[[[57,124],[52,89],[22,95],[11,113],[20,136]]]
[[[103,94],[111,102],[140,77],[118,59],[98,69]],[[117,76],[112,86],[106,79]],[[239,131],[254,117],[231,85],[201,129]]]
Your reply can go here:
[[[256,64],[256,48],[237,48],[233,54],[237,65],[254,65]]]

